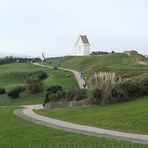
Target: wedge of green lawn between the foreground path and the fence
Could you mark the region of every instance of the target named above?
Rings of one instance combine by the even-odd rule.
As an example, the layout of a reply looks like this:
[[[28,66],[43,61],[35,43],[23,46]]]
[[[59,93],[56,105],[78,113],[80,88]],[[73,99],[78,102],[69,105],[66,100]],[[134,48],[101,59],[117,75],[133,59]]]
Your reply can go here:
[[[115,105],[44,109],[37,113],[84,125],[148,134],[148,97]]]

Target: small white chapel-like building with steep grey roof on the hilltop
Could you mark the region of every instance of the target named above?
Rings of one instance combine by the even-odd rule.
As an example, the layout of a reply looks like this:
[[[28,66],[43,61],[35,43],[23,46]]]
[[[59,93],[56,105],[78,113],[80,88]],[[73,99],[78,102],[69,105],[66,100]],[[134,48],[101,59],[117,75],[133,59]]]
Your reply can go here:
[[[90,55],[90,44],[86,35],[80,35],[75,44],[75,55]]]

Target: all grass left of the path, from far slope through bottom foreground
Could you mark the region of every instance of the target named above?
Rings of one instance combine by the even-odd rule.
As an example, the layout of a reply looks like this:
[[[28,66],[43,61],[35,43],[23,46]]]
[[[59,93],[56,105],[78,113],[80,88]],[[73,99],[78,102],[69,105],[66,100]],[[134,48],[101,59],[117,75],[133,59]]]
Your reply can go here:
[[[24,77],[30,72],[42,70],[48,73],[44,80],[44,89],[50,85],[62,85],[64,89],[78,87],[78,84],[70,73],[61,70],[36,67],[28,64],[5,64],[0,66],[0,87],[10,90],[16,86],[24,85]],[[13,111],[20,105],[42,103],[45,91],[37,94],[24,92],[19,99],[10,99],[6,94],[0,95],[0,147],[15,148],[41,148],[41,147],[111,147],[118,148],[146,148],[146,145],[135,144],[126,141],[112,140],[94,136],[85,136],[77,133],[66,132],[44,127],[20,119]]]

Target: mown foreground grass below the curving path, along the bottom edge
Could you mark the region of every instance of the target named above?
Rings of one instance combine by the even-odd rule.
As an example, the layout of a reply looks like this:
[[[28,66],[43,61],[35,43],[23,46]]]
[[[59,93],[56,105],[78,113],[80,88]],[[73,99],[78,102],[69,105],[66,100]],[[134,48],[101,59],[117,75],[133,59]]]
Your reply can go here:
[[[15,107],[0,107],[1,148],[146,148],[147,145],[65,132],[16,117]]]

